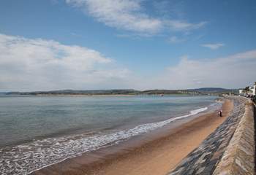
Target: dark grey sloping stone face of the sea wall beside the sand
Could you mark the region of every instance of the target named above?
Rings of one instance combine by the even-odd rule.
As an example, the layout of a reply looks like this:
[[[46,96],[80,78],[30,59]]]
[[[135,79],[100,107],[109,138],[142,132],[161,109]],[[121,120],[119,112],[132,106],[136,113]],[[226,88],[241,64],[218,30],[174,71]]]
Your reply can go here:
[[[226,99],[233,101],[233,110],[229,117],[168,175],[211,175],[214,173],[241,122],[241,118],[244,117],[248,101],[247,98],[238,96],[229,96]]]

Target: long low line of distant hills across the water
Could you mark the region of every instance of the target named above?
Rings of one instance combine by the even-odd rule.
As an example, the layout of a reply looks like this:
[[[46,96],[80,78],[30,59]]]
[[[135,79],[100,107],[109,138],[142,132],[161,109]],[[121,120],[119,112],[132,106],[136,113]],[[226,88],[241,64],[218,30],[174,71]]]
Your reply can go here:
[[[222,93],[238,93],[238,90],[224,88],[198,88],[188,90],[50,90],[34,92],[10,92],[7,95],[152,95],[152,94],[187,94],[187,95],[219,95]]]

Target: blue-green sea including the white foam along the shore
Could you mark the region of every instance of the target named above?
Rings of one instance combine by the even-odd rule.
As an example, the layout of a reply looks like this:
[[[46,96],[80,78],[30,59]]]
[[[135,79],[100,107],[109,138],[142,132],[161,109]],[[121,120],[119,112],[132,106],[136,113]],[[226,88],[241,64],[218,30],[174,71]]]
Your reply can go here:
[[[0,174],[28,174],[217,105],[212,96],[0,96]]]

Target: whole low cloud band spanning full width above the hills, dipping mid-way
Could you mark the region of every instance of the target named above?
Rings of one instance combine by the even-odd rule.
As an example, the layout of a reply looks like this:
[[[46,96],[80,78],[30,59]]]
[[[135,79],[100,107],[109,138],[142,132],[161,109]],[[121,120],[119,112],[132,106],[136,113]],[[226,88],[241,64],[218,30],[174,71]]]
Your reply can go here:
[[[256,77],[256,50],[215,59],[184,55],[150,77],[133,74],[95,50],[53,40],[0,34],[0,52],[0,91],[240,88]]]

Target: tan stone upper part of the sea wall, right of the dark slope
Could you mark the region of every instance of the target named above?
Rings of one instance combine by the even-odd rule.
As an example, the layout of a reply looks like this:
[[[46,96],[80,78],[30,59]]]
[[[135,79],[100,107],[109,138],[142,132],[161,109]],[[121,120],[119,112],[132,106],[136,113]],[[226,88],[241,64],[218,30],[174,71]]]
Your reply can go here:
[[[214,175],[255,174],[255,106],[246,101],[245,112],[214,170]]]

